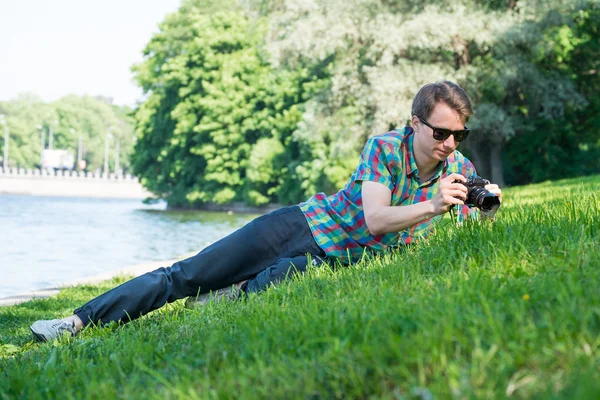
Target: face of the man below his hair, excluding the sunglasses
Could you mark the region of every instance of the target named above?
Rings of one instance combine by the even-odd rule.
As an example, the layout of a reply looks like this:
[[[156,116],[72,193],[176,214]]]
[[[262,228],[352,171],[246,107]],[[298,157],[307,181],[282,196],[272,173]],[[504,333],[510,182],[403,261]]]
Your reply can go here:
[[[456,111],[448,107],[444,103],[438,103],[429,118],[429,125],[436,128],[445,128],[450,130],[461,130],[465,125],[460,120]],[[433,130],[423,124],[418,117],[412,117],[412,126],[417,135],[415,136],[415,151],[424,156],[423,161],[433,163],[444,161],[458,146],[458,142],[454,140],[454,135],[448,136],[446,140],[436,140],[433,138]]]

